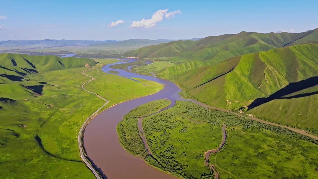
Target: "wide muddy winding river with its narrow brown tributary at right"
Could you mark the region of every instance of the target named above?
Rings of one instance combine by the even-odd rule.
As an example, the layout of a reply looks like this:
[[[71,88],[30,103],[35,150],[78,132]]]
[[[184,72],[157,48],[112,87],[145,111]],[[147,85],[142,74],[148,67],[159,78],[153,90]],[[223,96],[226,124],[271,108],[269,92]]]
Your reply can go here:
[[[178,94],[182,90],[176,84],[174,84],[173,82],[169,80],[160,79],[155,76],[135,74],[125,70],[121,70],[121,69],[110,68],[111,65],[132,62],[132,61],[136,61],[137,59],[128,59],[128,60],[129,61],[126,61],[126,62],[117,62],[117,63],[105,65],[102,68],[102,70],[107,73],[109,70],[115,70],[119,72],[116,75],[120,75],[120,76],[128,77],[128,78],[136,77],[136,78],[151,80],[151,81],[162,83],[165,86],[162,90],[158,91],[155,94],[132,99],[132,100],[114,105],[111,108],[106,109],[105,111],[101,112],[96,117],[94,117],[93,120],[91,120],[88,123],[84,132],[84,147],[86,150],[86,154],[88,155],[90,161],[92,161],[92,164],[94,165],[94,167],[97,168],[97,170],[100,172],[100,174],[104,178],[108,178],[108,179],[117,179],[117,178],[172,179],[172,178],[175,178],[176,179],[177,177],[164,173],[146,164],[141,157],[136,157],[129,154],[127,151],[125,151],[123,147],[121,147],[121,144],[119,143],[119,139],[116,132],[116,126],[122,120],[122,118],[132,109],[136,108],[139,105],[142,105],[154,100],[158,100],[158,99],[167,98],[171,100],[172,104],[175,103],[176,100],[185,100],[183,98],[180,98]],[[105,98],[107,99],[107,97]],[[197,101],[193,101],[193,102],[199,105],[202,105],[204,107],[214,108]],[[218,109],[218,108],[214,108],[214,109]],[[218,110],[230,112],[240,117],[245,117],[232,111],[228,111],[224,109],[218,109]],[[251,118],[251,117],[245,117],[245,118],[257,120],[259,122],[270,124],[270,125],[281,126],[281,125],[263,121],[257,118]],[[302,130],[298,131],[298,129],[290,128],[287,126],[281,126],[281,127],[288,128],[290,130],[293,130],[301,134],[305,134],[305,135],[307,134],[308,136],[310,135]],[[223,132],[225,134],[224,129],[223,129]],[[209,151],[209,153],[210,152],[213,153],[214,151]]]

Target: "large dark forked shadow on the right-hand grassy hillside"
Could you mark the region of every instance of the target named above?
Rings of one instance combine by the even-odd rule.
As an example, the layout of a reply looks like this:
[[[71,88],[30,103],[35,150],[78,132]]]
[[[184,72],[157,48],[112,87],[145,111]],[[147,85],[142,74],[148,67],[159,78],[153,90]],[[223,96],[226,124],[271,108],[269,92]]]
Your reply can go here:
[[[289,83],[284,88],[269,95],[269,97],[261,97],[261,98],[255,99],[250,105],[247,106],[247,111],[275,99],[293,99],[293,98],[306,97],[306,96],[318,94],[318,91],[315,91],[315,92],[303,93],[303,94],[297,94],[294,96],[285,97],[287,95],[293,94],[303,89],[314,87],[315,85],[318,85],[318,76],[313,76],[306,80],[301,80],[299,82]]]

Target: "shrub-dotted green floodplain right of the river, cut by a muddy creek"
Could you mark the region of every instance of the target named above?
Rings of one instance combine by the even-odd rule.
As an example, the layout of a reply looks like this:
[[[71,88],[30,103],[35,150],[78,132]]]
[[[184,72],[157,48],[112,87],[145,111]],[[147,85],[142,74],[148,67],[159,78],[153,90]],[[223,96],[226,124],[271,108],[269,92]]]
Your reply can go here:
[[[225,147],[210,155],[220,179],[317,176],[317,140],[187,101],[143,118],[152,152],[145,161],[179,177],[213,178],[204,166],[204,152],[219,146],[224,124]],[[138,135],[138,131],[131,132]]]

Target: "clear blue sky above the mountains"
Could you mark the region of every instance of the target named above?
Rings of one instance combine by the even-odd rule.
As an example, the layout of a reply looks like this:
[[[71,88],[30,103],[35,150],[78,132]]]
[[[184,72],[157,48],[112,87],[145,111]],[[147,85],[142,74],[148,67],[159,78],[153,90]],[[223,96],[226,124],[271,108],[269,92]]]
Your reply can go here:
[[[317,0],[0,0],[0,4],[0,40],[190,39],[318,27]],[[157,11],[161,13],[151,19]],[[125,23],[109,26],[118,20]]]

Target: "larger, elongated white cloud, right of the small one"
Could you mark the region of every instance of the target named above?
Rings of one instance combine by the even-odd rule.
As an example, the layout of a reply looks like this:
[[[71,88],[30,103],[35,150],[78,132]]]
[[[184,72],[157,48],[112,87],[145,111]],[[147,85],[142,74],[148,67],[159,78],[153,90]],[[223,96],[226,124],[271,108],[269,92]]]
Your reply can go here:
[[[131,28],[150,28],[150,27],[154,27],[157,25],[158,22],[161,22],[163,17],[170,19],[173,18],[175,16],[175,14],[181,14],[181,11],[171,11],[171,12],[167,12],[168,9],[165,10],[158,10],[156,11],[151,19],[142,19],[140,21],[134,21],[130,27]]]

